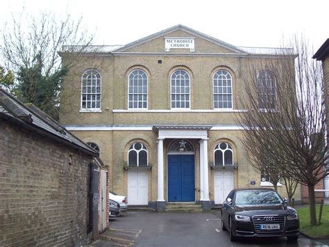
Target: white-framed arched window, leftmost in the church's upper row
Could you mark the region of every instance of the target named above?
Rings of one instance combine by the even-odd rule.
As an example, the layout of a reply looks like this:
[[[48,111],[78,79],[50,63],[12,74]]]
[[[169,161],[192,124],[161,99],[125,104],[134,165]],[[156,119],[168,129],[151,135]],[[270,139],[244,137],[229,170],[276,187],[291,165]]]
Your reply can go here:
[[[90,86],[88,86],[89,84],[87,84],[87,77],[90,76],[91,73],[94,73],[96,76],[96,83],[95,85],[93,85],[93,82],[95,80],[95,78],[92,78],[91,84]],[[97,77],[98,75],[98,77]],[[83,93],[83,88],[84,88],[84,83],[85,83],[85,88],[87,90],[88,87],[90,87],[90,93]],[[99,93],[92,93],[93,88],[97,88],[99,86],[100,90]],[[99,95],[99,100],[93,100],[93,99],[85,99],[83,100],[83,97],[87,98],[88,95],[90,95],[90,97],[94,96],[97,97]],[[83,107],[83,102],[85,102],[85,107]],[[90,103],[95,103],[97,104],[97,102],[99,102],[99,107],[87,107],[87,104]],[[96,69],[87,69],[83,72],[82,76],[81,76],[81,105],[80,105],[80,112],[101,112],[101,73],[96,70]]]

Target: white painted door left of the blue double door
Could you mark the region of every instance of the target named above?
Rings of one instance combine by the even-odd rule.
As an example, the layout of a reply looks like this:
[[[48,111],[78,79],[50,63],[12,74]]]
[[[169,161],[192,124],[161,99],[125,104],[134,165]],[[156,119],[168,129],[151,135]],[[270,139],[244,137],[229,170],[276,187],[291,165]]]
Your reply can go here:
[[[128,170],[128,205],[148,205],[148,176],[146,169]]]

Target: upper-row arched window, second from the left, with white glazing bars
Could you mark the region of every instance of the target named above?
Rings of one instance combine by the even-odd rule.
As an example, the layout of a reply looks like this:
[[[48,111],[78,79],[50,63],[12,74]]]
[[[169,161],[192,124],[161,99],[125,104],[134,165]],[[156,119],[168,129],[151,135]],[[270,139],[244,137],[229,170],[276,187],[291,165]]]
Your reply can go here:
[[[133,70],[128,77],[128,109],[147,109],[147,75]]]

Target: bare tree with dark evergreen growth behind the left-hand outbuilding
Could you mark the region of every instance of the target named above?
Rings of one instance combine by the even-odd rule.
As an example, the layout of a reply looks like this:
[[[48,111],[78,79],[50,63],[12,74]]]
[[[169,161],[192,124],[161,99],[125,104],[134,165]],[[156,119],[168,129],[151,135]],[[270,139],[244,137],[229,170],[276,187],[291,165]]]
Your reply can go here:
[[[76,63],[78,56],[90,49],[93,40],[93,35],[83,26],[82,18],[74,20],[69,14],[58,16],[53,13],[12,15],[1,36],[3,63],[15,76],[12,93],[58,118],[62,77]],[[63,46],[64,52],[71,52],[65,66],[58,55]]]

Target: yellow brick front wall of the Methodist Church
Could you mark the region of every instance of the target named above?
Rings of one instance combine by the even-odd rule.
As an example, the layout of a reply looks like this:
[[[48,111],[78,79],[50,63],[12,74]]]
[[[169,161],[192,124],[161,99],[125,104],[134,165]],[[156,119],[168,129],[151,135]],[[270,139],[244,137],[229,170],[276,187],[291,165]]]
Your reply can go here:
[[[244,83],[248,62],[262,63],[265,58],[237,56],[219,45],[195,39],[195,52],[188,49],[171,49],[165,53],[164,37],[191,37],[191,33],[174,31],[149,40],[126,50],[126,54],[87,54],[78,58],[74,66],[69,67],[69,76],[63,85],[60,122],[64,125],[78,126],[152,126],[152,125],[235,125],[235,111],[212,111],[212,76],[219,69],[228,70],[233,78],[233,110],[241,110],[239,99],[244,97]],[[143,53],[144,52],[144,53]],[[147,54],[146,54],[147,53]],[[179,54],[178,54],[179,53]],[[199,53],[199,54],[198,54]],[[223,54],[219,56],[218,54]],[[232,55],[233,54],[233,55]],[[235,55],[234,55],[235,54]],[[64,63],[69,63],[69,56],[62,56]],[[158,61],[162,63],[158,63]],[[89,68],[99,70],[102,77],[102,101],[100,113],[80,113],[81,75]],[[128,110],[128,74],[136,69],[144,70],[148,76],[148,109],[152,111]],[[190,75],[190,102],[193,111],[169,111],[170,77],[176,69],[184,69]],[[327,66],[328,71],[328,66]],[[328,74],[328,73],[327,73]],[[165,111],[162,111],[165,110]],[[201,111],[197,111],[201,110]],[[83,141],[92,141],[101,148],[101,159],[108,165],[110,189],[127,194],[128,147],[134,141],[141,141],[149,150],[149,200],[157,200],[157,137],[153,131],[74,131]],[[214,145],[220,140],[228,141],[234,148],[234,161],[239,167],[235,169],[235,187],[250,188],[251,180],[260,186],[260,175],[255,172],[246,157],[244,145],[240,141],[240,130],[209,131],[208,160],[213,162]],[[165,170],[167,175],[167,145],[172,140],[164,141]],[[196,161],[196,200],[199,200],[199,140],[190,139],[195,147]],[[209,168],[210,199],[213,200],[214,171]],[[167,198],[167,177],[165,181],[165,198]],[[279,188],[282,196],[286,195],[284,186]],[[299,193],[299,196],[298,196]],[[300,198],[297,189],[295,198]]]

